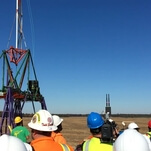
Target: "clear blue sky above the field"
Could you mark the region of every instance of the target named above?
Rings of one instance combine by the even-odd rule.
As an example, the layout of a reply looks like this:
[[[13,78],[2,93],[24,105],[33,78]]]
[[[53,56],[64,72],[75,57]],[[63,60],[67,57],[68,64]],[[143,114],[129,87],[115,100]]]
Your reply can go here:
[[[0,50],[14,15],[15,0],[1,0]],[[106,94],[112,113],[151,113],[150,0],[23,0],[23,15],[51,113],[101,113]]]

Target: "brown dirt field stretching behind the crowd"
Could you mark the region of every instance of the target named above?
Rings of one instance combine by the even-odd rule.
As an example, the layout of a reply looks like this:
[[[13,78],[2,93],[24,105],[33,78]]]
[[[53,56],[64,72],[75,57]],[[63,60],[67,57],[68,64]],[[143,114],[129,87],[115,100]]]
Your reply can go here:
[[[81,142],[84,138],[87,138],[90,135],[89,129],[86,125],[86,117],[62,117],[63,121],[63,135],[66,138],[68,144],[75,148],[75,146]],[[125,121],[126,126],[130,122],[136,122],[140,127],[141,133],[147,132],[147,123],[150,118],[121,118],[114,117],[112,118],[117,124],[119,130],[123,128],[121,122]],[[30,121],[30,118],[23,118],[24,125],[27,126],[27,123]],[[28,127],[28,126],[27,126]]]

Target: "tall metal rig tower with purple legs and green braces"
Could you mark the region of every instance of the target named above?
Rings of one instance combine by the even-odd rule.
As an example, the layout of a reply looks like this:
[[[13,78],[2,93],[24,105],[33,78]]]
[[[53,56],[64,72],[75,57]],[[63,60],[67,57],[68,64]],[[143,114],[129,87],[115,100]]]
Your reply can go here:
[[[22,49],[23,25],[22,2],[16,0],[16,48],[10,47],[3,50],[2,59],[2,86],[0,99],[4,100],[4,107],[0,121],[0,135],[9,134],[9,126],[14,125],[16,116],[22,117],[22,111],[26,102],[31,102],[34,113],[35,104],[39,102],[42,109],[47,109],[44,97],[40,93],[39,81],[29,49]],[[15,73],[13,72],[15,69]],[[33,77],[31,79],[30,74]],[[26,79],[26,80],[25,80]],[[25,90],[23,84],[26,82]]]

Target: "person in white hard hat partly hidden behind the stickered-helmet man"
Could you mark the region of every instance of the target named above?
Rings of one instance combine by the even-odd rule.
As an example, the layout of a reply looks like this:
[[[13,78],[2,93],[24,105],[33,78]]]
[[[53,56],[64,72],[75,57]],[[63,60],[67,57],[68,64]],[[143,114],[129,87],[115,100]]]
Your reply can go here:
[[[63,137],[62,131],[62,122],[63,119],[60,118],[58,115],[53,115],[54,125],[57,126],[57,130],[51,133],[51,137],[55,140],[55,142],[66,144],[66,139]]]

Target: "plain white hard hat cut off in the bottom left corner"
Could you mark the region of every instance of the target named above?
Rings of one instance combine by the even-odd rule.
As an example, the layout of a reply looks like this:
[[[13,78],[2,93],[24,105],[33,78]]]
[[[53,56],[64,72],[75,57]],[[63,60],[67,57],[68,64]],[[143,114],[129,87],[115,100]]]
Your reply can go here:
[[[3,134],[0,136],[1,151],[27,151],[24,143],[15,136]]]

